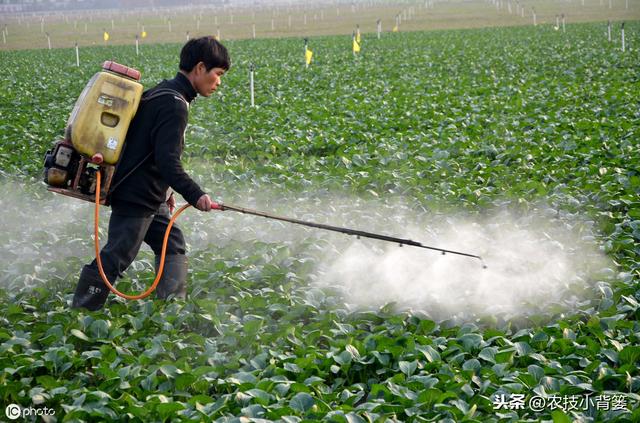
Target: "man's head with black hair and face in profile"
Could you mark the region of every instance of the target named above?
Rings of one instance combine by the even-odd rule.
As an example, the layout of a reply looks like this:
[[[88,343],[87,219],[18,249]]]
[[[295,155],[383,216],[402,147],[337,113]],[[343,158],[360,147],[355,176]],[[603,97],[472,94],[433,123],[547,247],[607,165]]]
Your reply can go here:
[[[204,97],[218,88],[220,78],[230,67],[227,49],[213,37],[189,40],[180,52],[180,71]]]

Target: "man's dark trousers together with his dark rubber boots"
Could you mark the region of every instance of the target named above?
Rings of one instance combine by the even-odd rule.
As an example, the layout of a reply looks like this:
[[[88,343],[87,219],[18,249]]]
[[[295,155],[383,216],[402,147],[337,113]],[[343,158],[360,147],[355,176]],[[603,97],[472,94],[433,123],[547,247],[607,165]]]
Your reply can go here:
[[[102,268],[112,285],[115,285],[116,279],[121,277],[135,260],[143,242],[148,244],[155,253],[157,264],[162,252],[165,231],[171,219],[169,207],[166,204],[162,204],[158,211],[150,216],[130,214],[132,213],[129,213],[126,208],[113,208],[109,219],[108,240],[100,251]],[[184,290],[185,249],[182,231],[174,224],[167,240],[165,273],[158,285],[157,294],[162,292],[162,295],[166,296],[167,290],[175,291],[178,288]],[[167,266],[169,263],[173,265]],[[167,284],[169,286],[164,286]],[[82,269],[72,307],[97,310],[104,305],[108,295],[109,288],[102,281],[97,260],[94,259]]]

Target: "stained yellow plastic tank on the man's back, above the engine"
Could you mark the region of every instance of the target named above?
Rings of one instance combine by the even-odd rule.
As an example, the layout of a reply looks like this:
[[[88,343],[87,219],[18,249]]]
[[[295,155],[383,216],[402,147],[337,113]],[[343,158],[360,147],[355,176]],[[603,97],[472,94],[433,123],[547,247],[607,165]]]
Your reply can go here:
[[[136,114],[140,72],[107,61],[87,83],[67,122],[66,137],[86,157],[100,154],[105,164],[120,158],[129,124]]]

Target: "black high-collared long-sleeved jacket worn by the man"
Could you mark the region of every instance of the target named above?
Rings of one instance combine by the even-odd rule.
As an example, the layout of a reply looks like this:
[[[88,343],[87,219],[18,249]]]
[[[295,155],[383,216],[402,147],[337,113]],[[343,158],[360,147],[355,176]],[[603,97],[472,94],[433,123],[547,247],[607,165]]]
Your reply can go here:
[[[177,91],[181,97],[164,94],[145,100],[158,89]],[[181,73],[143,94],[112,181],[115,189],[110,201],[114,210],[133,215],[155,213],[166,201],[169,187],[194,206],[204,194],[180,162],[189,117],[188,103],[196,95]]]

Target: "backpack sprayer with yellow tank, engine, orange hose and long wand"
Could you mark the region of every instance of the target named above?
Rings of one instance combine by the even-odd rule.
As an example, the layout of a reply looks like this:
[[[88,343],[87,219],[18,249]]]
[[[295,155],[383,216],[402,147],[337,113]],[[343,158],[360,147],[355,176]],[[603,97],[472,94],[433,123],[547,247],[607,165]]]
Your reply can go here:
[[[135,69],[112,61],[104,62],[102,69],[89,80],[78,97],[67,122],[64,139],[56,141],[54,146],[47,151],[44,160],[44,181],[48,185],[49,191],[95,202],[95,252],[100,275],[114,294],[126,299],[141,299],[149,296],[156,289],[164,270],[164,258],[171,228],[178,216],[190,205],[186,204],[176,210],[167,225],[158,273],[151,286],[145,292],[137,295],[128,295],[118,291],[109,282],[102,268],[98,239],[99,210],[101,204],[108,205],[107,196],[111,189],[115,167],[123,150],[129,124],[140,104],[143,89],[138,82],[140,72]],[[478,255],[430,247],[410,239],[276,216],[229,204],[217,204],[214,209],[230,210],[339,232],[356,236],[358,239],[363,237],[393,242],[401,247],[409,245],[425,248],[438,251],[443,255],[455,254],[470,257],[480,260],[483,268],[487,267],[482,257]]]

